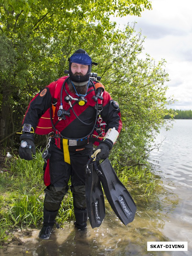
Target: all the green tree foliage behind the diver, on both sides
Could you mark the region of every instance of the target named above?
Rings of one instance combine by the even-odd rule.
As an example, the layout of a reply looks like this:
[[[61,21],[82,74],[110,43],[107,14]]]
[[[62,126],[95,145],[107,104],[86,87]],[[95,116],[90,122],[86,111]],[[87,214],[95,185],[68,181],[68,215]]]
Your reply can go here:
[[[165,97],[165,61],[141,60],[141,34],[134,26],[116,29],[109,16],[140,16],[144,8],[151,8],[149,1],[0,0],[1,139],[20,129],[29,100],[63,76],[68,57],[83,48],[121,108],[116,151],[127,164],[141,158],[163,117],[173,115],[165,106],[174,100]]]

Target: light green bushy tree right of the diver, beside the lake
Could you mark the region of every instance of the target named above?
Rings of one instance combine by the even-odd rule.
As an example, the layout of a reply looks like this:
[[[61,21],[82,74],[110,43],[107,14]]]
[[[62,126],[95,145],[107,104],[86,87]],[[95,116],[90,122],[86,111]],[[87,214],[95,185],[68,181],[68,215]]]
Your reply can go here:
[[[100,48],[98,72],[105,88],[120,105],[123,129],[119,137],[116,156],[128,165],[140,162],[154,142],[156,132],[167,126],[164,116],[173,118],[175,111],[166,105],[165,60],[157,64],[149,56],[140,59],[143,50],[141,34],[134,36],[134,27],[127,26],[123,33],[114,31]]]

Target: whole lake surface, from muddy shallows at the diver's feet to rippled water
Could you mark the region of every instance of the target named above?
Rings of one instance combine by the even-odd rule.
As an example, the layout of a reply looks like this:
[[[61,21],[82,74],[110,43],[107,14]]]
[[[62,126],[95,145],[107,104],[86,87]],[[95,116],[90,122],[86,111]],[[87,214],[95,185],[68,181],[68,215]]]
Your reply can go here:
[[[16,233],[18,242],[0,249],[0,255],[33,256],[186,256],[192,255],[192,120],[176,120],[170,131],[161,130],[150,153],[156,188],[150,197],[140,188],[130,191],[137,203],[132,223],[124,226],[106,212],[100,228],[78,231],[73,222],[54,229],[49,240],[39,229]],[[129,188],[128,188],[129,190]],[[147,241],[188,242],[188,251],[147,251]]]

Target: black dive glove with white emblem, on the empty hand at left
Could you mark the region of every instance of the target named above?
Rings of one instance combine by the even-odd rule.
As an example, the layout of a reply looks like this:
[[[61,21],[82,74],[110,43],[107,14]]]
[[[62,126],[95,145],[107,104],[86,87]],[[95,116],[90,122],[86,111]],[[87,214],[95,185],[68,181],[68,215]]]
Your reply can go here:
[[[34,144],[34,135],[32,133],[23,133],[20,136],[20,147],[19,147],[19,156],[25,160],[32,160],[32,153],[35,155],[35,144]],[[32,153],[31,153],[32,151]]]

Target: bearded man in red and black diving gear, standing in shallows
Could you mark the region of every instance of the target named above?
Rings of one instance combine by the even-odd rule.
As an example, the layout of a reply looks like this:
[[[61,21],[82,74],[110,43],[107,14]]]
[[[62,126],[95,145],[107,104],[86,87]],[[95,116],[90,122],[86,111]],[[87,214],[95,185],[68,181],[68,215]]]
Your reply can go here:
[[[71,191],[75,227],[87,227],[85,198],[85,166],[93,154],[93,143],[99,140],[95,130],[105,122],[104,136],[96,149],[97,161],[106,159],[122,128],[119,105],[104,86],[92,80],[92,62],[88,53],[79,49],[71,55],[68,76],[63,76],[44,87],[29,103],[22,122],[19,156],[32,160],[35,154],[34,133],[49,134],[43,152],[44,163],[44,221],[39,233],[48,239],[63,197]],[[99,92],[99,93],[98,93]],[[98,101],[100,102],[98,103]],[[99,118],[98,118],[99,113]],[[107,136],[106,136],[107,135]]]

